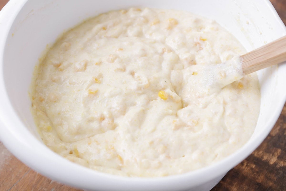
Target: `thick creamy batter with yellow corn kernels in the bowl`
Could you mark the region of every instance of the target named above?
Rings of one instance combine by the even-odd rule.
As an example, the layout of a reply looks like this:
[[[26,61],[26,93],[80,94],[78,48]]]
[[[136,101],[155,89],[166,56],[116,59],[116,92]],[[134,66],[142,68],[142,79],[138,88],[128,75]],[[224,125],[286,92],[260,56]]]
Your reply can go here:
[[[202,168],[255,129],[259,84],[256,74],[242,76],[244,53],[215,21],[188,12],[101,14],[63,34],[40,63],[35,123],[53,151],[101,172],[154,177]],[[216,67],[231,58],[232,67]]]

